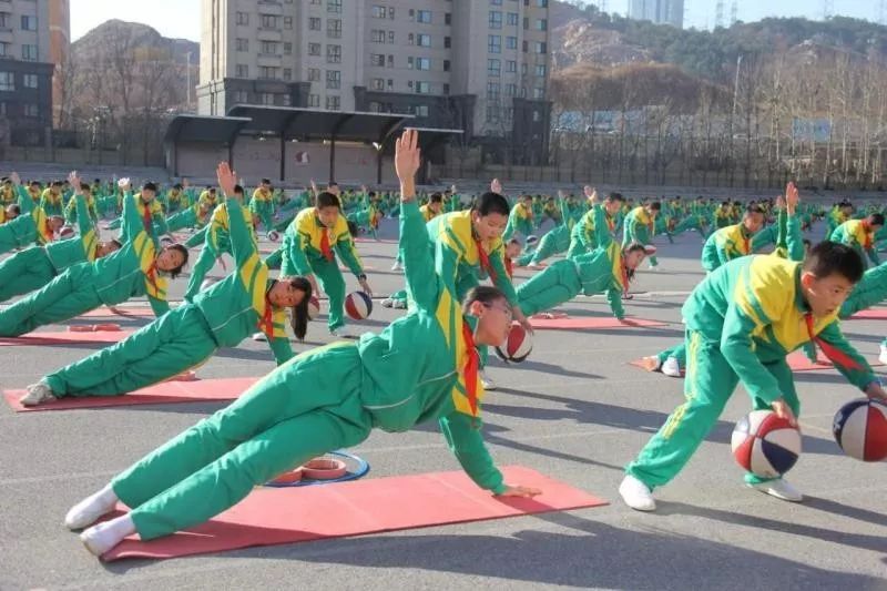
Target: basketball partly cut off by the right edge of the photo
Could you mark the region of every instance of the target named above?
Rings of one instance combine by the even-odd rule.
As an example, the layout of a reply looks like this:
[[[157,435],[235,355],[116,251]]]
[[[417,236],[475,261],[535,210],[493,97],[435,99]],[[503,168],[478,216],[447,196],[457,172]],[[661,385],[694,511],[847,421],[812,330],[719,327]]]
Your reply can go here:
[[[852,400],[840,407],[832,424],[840,449],[861,461],[887,458],[887,405],[868,398]]]

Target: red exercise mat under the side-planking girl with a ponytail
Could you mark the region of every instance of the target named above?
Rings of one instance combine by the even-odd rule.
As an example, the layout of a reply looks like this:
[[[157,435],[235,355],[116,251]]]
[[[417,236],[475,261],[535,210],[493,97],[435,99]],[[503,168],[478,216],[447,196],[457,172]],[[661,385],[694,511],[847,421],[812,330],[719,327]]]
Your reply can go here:
[[[200,379],[182,381],[175,376],[147,388],[123,396],[65,397],[54,403],[23,407],[19,404],[26,390],[4,390],[3,397],[16,412],[39,410],[69,410],[73,408],[106,408],[111,406],[170,405],[177,403],[204,403],[213,400],[234,400],[245,393],[259,378]]]

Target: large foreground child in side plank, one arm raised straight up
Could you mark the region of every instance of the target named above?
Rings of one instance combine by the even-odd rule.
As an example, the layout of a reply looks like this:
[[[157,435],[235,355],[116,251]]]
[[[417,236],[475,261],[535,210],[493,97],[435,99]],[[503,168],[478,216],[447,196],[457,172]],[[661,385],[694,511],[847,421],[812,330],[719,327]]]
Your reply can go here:
[[[460,306],[435,274],[415,203],[415,135],[408,130],[398,140],[395,164],[404,202],[400,248],[416,312],[379,335],[367,333],[358,343],[334,343],[295,357],[74,506],[65,516],[71,529],[90,526],[118,501],[132,509],[81,534],[91,552],[101,556],[135,532],[151,540],[201,523],[256,485],[319,454],[360,444],[374,427],[402,432],[438,420],[479,487],[509,497],[541,492],[506,483],[483,445],[476,346],[506,339],[510,310],[502,294],[489,287],[472,292]],[[310,396],[293,396],[294,388]]]

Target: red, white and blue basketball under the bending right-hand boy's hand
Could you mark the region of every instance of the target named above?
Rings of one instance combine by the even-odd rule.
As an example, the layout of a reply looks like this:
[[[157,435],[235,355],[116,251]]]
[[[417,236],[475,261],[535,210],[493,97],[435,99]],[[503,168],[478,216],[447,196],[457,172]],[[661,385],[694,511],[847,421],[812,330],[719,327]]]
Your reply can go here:
[[[773,410],[753,410],[736,424],[731,447],[743,469],[759,478],[778,478],[801,456],[801,431]]]

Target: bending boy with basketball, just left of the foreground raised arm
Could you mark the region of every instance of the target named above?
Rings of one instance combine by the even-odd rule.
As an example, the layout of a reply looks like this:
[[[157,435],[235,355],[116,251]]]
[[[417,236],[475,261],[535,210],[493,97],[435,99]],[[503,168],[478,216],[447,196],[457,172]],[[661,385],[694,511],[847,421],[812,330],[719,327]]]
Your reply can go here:
[[[354,273],[368,296],[373,297],[373,291],[348,231],[348,222],[341,215],[339,198],[326,191],[317,195],[316,206],[300,211],[286,228],[282,248],[281,273],[308,277],[315,294],[319,293],[316,283],[319,281],[329,297],[329,333],[337,337],[350,336],[345,327],[345,278],[336,255]]]

